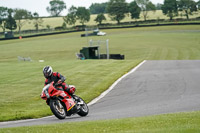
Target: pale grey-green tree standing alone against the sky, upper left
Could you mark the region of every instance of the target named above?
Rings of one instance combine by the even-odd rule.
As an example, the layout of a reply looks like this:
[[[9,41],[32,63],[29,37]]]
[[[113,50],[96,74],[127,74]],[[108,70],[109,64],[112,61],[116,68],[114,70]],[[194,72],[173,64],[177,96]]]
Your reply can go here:
[[[65,2],[62,0],[52,0],[49,2],[50,6],[46,8],[47,12],[51,14],[51,16],[59,16],[60,13],[66,9]]]

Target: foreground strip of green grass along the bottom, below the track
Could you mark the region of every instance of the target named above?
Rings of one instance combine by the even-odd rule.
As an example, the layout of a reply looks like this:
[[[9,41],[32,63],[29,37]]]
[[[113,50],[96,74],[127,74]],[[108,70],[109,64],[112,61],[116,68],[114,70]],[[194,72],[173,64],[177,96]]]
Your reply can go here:
[[[1,133],[199,133],[200,112],[0,129]]]

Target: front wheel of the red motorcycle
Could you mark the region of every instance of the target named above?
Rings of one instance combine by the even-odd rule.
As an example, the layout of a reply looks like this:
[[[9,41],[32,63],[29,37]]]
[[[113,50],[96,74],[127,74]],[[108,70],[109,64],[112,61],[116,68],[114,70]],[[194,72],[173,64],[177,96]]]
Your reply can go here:
[[[58,99],[56,100],[50,100],[49,102],[50,109],[52,113],[58,118],[58,119],[65,119],[66,112],[63,105],[60,103]]]

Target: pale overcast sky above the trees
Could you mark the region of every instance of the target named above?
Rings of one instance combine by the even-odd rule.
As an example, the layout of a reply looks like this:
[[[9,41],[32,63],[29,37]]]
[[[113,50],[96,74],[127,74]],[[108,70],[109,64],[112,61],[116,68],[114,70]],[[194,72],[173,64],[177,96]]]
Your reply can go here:
[[[0,0],[0,6],[8,8],[27,9],[32,13],[37,12],[40,16],[49,16],[46,7],[49,6],[51,0]],[[66,3],[67,10],[74,5],[75,7],[84,6],[89,8],[92,3],[103,3],[109,0],[63,0]],[[130,3],[133,0],[126,0]],[[154,4],[163,3],[164,0],[150,0]],[[196,1],[196,0],[195,0]],[[67,10],[63,11],[61,15],[67,15]]]

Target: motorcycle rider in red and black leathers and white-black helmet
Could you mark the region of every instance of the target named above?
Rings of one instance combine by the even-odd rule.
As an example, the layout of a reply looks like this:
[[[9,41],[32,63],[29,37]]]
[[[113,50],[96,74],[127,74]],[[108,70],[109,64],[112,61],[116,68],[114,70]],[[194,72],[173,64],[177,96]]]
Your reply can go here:
[[[64,82],[66,78],[62,76],[58,72],[53,72],[53,69],[51,66],[45,66],[43,68],[43,74],[46,78],[45,85],[51,83],[54,81],[54,84],[59,88],[62,87],[64,91],[66,91],[68,94],[73,95],[75,92],[75,87],[68,87],[68,85]]]

